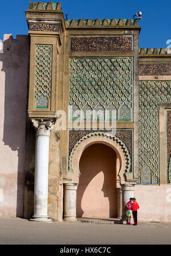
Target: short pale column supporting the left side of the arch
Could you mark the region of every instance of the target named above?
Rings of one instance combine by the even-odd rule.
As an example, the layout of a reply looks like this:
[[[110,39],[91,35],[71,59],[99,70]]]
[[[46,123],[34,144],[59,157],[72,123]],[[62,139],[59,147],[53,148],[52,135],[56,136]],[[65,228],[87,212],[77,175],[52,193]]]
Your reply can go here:
[[[76,221],[76,190],[78,184],[64,184],[64,221]]]

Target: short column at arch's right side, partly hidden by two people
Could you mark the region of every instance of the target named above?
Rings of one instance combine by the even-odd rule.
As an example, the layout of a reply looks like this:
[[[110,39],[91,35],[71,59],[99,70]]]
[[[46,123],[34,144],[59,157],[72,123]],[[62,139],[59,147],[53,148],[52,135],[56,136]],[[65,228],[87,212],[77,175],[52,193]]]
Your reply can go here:
[[[129,201],[129,198],[134,197],[134,186],[133,184],[124,184],[121,185],[122,189],[122,221],[125,222],[127,219],[127,202]]]

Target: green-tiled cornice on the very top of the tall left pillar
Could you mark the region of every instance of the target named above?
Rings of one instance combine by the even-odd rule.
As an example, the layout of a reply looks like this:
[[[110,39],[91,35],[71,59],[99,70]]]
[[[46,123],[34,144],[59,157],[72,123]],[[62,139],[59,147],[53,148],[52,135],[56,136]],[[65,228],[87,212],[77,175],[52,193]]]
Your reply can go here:
[[[30,2],[29,3],[29,10],[47,10],[47,11],[62,11],[60,3],[43,3],[43,2]]]

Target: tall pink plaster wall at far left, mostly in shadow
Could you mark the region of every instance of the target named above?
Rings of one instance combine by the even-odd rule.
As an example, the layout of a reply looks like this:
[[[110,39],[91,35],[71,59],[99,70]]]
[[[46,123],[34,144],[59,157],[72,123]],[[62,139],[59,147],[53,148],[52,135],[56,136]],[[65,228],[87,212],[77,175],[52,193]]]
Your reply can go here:
[[[4,35],[0,53],[0,216],[22,217],[28,36]]]

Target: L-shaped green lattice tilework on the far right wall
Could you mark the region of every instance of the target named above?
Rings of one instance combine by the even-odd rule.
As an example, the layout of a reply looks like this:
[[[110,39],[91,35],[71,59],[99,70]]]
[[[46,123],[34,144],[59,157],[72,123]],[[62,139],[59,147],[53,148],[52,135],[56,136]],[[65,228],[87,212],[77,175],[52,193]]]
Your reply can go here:
[[[171,81],[141,81],[139,97],[140,177],[137,183],[157,185],[159,183],[158,103],[171,102]]]

